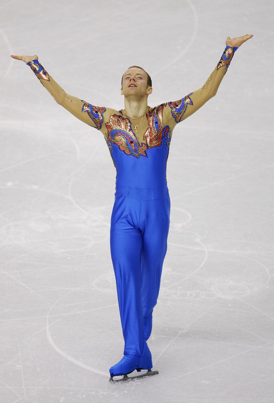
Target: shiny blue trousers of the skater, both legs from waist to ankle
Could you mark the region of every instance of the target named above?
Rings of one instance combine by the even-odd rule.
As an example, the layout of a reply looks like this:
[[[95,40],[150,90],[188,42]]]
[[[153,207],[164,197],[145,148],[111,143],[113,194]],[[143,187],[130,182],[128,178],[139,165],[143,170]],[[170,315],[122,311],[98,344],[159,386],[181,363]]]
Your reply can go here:
[[[138,197],[138,195],[136,196]],[[169,195],[138,200],[117,194],[111,216],[110,251],[125,340],[124,354],[143,355],[144,317],[152,322],[169,229]],[[150,326],[151,327],[151,326]]]

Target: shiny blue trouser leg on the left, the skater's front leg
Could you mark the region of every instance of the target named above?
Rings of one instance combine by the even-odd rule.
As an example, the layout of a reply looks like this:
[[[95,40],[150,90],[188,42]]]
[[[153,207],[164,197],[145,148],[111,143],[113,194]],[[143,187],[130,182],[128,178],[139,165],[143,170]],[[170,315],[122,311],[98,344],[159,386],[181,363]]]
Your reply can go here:
[[[138,222],[140,201],[116,195],[110,225],[110,252],[125,340],[124,354],[143,355],[141,295],[142,233]]]

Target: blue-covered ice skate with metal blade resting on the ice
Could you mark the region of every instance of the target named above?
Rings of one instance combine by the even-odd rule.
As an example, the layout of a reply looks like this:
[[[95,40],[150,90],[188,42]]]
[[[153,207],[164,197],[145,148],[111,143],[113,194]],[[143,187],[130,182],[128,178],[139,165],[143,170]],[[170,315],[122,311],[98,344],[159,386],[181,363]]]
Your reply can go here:
[[[142,357],[130,354],[124,355],[117,364],[110,368],[110,382],[129,381],[159,374],[158,371],[152,371],[151,368],[152,356],[148,348]]]

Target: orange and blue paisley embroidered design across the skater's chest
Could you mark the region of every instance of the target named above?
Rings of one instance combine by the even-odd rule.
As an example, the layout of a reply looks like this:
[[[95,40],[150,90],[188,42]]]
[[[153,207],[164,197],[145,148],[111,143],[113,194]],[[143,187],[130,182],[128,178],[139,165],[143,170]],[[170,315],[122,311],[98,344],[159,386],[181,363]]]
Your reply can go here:
[[[146,151],[151,147],[162,144],[162,137],[170,133],[169,126],[163,124],[163,110],[166,104],[161,104],[152,111],[146,113],[148,128],[143,135],[144,143],[139,143],[137,136],[132,130],[129,118],[114,114],[106,123],[108,130],[108,143],[117,144],[125,154],[131,154],[137,158],[147,157]],[[121,113],[121,111],[120,111]],[[166,145],[170,145],[170,136],[166,140]],[[109,144],[111,147],[111,144]],[[111,147],[112,148],[112,147]]]

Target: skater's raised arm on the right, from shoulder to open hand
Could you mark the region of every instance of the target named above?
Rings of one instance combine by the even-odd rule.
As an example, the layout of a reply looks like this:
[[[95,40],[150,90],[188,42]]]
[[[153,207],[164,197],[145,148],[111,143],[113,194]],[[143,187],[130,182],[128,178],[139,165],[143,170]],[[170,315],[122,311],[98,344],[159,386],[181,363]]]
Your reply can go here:
[[[204,85],[180,100],[166,103],[164,113],[170,126],[174,127],[177,123],[180,123],[191,116],[201,108],[205,102],[216,95],[219,85],[227,72],[236,50],[243,42],[252,36],[253,35],[244,35],[243,37],[233,39],[228,37],[226,40],[226,44],[228,45],[224,49],[218,64],[205,81]],[[235,46],[235,44],[237,44],[237,46]]]

